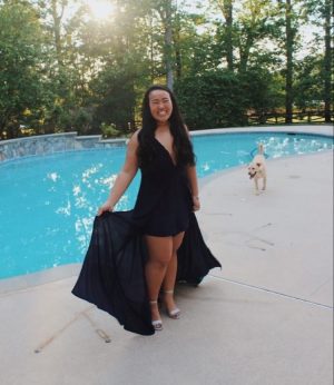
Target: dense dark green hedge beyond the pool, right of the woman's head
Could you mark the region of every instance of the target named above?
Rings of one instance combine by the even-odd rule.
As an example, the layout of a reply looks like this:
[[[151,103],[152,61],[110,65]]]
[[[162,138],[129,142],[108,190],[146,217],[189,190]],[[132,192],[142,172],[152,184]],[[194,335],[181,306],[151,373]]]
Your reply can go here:
[[[177,97],[191,129],[247,125],[247,113],[264,113],[282,102],[266,70],[207,71],[178,81]]]

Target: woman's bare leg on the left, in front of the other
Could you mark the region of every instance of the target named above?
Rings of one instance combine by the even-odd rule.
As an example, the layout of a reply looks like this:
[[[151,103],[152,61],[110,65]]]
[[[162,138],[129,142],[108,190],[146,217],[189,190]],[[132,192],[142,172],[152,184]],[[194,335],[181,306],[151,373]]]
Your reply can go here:
[[[173,237],[145,236],[148,249],[148,261],[145,276],[149,300],[157,300],[160,287],[173,255]],[[160,319],[157,304],[151,304],[151,319]]]

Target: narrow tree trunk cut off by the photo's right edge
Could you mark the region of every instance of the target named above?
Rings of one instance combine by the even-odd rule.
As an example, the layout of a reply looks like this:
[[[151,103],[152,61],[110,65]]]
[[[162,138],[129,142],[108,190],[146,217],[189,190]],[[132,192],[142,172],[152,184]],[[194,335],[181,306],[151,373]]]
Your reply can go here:
[[[325,60],[324,60],[324,102],[325,102],[325,122],[331,122],[331,73],[332,73],[332,47],[331,47],[331,14],[333,3],[325,0]]]

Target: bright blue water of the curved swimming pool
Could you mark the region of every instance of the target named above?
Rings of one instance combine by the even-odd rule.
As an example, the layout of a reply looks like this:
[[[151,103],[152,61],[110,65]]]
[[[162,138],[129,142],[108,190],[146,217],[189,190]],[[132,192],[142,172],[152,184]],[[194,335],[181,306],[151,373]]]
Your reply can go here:
[[[324,136],[224,134],[193,139],[204,177],[246,165],[265,145],[268,158],[333,148]],[[97,207],[105,201],[125,159],[125,148],[30,157],[0,165],[0,278],[79,263],[87,249]],[[117,209],[134,206],[135,178]]]

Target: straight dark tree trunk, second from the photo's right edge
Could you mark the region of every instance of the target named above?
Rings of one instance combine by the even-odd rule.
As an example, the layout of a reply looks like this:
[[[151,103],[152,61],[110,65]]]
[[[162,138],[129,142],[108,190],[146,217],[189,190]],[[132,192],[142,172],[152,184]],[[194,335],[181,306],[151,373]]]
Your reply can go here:
[[[293,45],[294,31],[292,29],[292,6],[291,0],[285,3],[285,55],[286,55],[286,78],[285,78],[285,122],[293,122]]]

